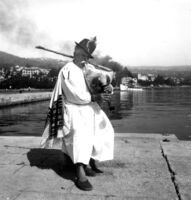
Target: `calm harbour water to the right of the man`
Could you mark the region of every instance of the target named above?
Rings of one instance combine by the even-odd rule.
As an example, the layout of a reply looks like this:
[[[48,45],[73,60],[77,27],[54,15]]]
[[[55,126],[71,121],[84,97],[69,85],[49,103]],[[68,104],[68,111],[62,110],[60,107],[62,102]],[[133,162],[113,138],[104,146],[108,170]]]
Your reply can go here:
[[[118,92],[112,103],[116,132],[175,134],[179,139],[191,139],[191,88]]]

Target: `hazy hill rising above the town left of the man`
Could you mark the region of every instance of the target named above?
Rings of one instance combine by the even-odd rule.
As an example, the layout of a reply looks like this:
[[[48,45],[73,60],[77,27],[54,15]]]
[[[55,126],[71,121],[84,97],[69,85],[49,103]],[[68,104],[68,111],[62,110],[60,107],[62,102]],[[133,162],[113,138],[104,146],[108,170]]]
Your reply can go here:
[[[60,68],[67,61],[52,58],[22,58],[0,51],[0,68],[5,66],[36,66],[41,68]]]

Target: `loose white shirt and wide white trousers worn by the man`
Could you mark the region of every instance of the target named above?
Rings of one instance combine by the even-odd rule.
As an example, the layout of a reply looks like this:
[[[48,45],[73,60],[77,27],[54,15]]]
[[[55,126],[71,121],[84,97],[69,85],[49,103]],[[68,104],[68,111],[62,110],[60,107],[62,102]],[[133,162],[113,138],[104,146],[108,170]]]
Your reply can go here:
[[[57,136],[62,138],[62,150],[74,163],[88,164],[90,158],[113,159],[113,127],[99,105],[91,102],[83,71],[73,62],[61,69],[50,104],[59,94],[64,95],[65,123]],[[42,137],[44,147],[48,142],[48,128]]]

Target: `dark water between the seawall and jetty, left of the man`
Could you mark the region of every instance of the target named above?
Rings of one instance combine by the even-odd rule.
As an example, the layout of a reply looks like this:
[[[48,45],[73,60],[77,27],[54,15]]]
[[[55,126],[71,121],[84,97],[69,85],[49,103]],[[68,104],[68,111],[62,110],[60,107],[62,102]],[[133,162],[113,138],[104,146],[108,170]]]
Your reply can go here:
[[[39,136],[44,128],[48,104],[45,101],[0,109],[0,134]]]

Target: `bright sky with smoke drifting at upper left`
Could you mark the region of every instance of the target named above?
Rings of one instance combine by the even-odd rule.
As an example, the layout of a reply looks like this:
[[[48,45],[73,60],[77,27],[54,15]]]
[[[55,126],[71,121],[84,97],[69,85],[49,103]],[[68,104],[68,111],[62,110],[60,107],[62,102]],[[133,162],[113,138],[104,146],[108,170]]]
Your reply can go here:
[[[0,51],[69,58],[97,37],[94,54],[126,66],[191,65],[190,0],[0,0]]]

